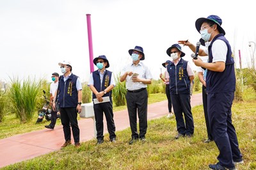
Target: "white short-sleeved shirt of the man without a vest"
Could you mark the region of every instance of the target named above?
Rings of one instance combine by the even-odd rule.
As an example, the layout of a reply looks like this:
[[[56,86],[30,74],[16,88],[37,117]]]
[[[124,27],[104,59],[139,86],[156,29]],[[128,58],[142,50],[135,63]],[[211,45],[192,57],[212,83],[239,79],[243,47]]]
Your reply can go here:
[[[138,78],[140,79],[152,79],[152,74],[147,66],[145,66],[141,61],[138,65],[134,65],[130,63],[122,69],[121,75],[124,75],[125,72],[131,71],[132,73],[138,73]],[[126,89],[128,90],[136,90],[141,88],[147,88],[147,84],[142,82],[132,82],[131,76],[127,75],[125,79]]]

